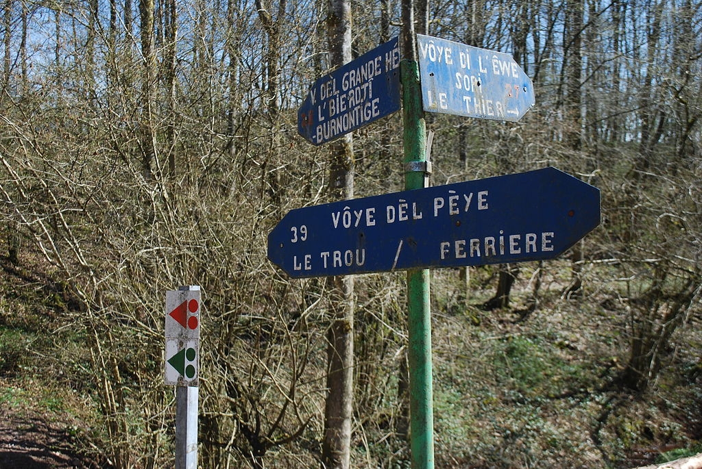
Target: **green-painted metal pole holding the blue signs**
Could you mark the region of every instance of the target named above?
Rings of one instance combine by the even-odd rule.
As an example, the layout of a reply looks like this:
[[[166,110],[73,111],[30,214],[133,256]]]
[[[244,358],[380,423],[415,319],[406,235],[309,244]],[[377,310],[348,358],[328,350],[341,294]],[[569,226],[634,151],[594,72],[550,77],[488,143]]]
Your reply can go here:
[[[404,124],[405,189],[421,189],[428,177],[426,124],[422,109],[419,64],[402,60],[402,119]],[[432,405],[432,330],[429,270],[407,272],[409,332],[409,413],[412,469],[434,468],[434,410]]]

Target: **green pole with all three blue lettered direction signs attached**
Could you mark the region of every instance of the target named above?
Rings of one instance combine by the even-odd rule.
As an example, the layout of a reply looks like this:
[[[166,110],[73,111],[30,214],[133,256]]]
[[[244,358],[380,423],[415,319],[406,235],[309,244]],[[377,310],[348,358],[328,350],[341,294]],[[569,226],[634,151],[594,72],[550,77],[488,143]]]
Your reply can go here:
[[[428,269],[557,257],[600,224],[600,191],[555,168],[426,187],[424,111],[516,122],[534,85],[508,54],[415,35],[411,2],[402,20],[407,57],[395,38],[315,81],[298,132],[321,145],[388,116],[402,81],[406,191],[292,210],[268,259],[294,278],[408,271],[411,467],[432,469]]]

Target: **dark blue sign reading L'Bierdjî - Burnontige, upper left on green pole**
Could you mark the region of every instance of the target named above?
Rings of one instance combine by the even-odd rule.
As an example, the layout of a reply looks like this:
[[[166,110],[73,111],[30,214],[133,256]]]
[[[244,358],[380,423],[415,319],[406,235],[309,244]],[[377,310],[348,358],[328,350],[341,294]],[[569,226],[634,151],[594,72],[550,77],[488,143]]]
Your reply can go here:
[[[321,145],[399,110],[399,39],[312,84],[298,110],[298,133]]]

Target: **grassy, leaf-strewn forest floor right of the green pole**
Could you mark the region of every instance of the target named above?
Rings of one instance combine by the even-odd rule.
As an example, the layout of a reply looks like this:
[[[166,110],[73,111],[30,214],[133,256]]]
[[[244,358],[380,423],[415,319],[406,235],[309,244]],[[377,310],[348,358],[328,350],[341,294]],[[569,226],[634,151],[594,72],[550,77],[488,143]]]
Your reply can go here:
[[[689,447],[699,421],[698,386],[691,384],[700,378],[694,329],[676,336],[676,344],[686,345],[668,355],[649,393],[619,392],[612,379],[628,348],[625,304],[605,301],[611,283],[596,271],[588,272],[584,298],[574,300],[560,298],[557,278],[548,275],[550,287],[524,322],[498,310],[479,313],[482,322],[475,325],[470,309],[446,301],[455,293],[439,297],[432,332],[437,461],[445,467],[627,468],[652,463],[656,447]],[[443,288],[465,289],[445,274],[440,281]],[[518,308],[529,289],[523,282],[516,288]],[[477,295],[486,297],[486,290]],[[637,454],[648,459],[637,461]]]

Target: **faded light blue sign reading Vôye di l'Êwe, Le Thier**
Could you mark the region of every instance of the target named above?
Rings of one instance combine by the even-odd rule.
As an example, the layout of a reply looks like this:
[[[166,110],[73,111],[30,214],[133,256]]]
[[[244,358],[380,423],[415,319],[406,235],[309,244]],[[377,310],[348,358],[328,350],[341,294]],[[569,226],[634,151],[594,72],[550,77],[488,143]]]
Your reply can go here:
[[[417,34],[425,111],[519,121],[534,83],[511,55]]]

